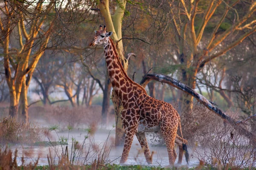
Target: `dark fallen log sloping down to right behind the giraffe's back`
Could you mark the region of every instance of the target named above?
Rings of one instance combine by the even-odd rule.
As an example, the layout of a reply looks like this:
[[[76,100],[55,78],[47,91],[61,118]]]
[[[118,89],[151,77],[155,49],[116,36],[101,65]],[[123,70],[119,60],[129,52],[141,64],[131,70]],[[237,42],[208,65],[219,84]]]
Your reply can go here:
[[[147,73],[145,76],[143,76],[143,79],[140,82],[140,85],[145,88],[145,86],[150,82],[151,80],[155,80],[162,83],[167,83],[177,89],[180,89],[181,91],[185,92],[186,94],[189,94],[195,99],[198,100],[201,104],[206,106],[210,111],[220,116],[222,119],[224,119],[226,122],[230,123],[236,129],[241,135],[246,136],[252,144],[256,144],[256,136],[255,134],[249,132],[244,127],[236,123],[234,119],[232,119],[230,116],[226,115],[223,111],[221,111],[219,108],[217,108],[215,105],[212,105],[211,102],[209,102],[204,96],[201,94],[198,94],[194,89],[190,88],[189,86],[183,84],[182,82],[178,81],[177,79],[173,79],[172,77],[163,75],[163,74],[150,74]]]

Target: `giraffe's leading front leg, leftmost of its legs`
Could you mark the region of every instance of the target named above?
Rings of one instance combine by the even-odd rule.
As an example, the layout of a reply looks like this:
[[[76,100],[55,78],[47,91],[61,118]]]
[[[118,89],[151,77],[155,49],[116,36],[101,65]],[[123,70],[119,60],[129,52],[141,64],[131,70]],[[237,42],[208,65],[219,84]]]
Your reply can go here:
[[[122,157],[121,157],[121,160],[120,160],[120,164],[123,164],[123,163],[125,163],[125,161],[127,161],[127,158],[128,158],[128,155],[129,155],[129,152],[130,152],[130,149],[131,149],[131,144],[132,144],[133,139],[134,139],[134,134],[135,134],[135,129],[126,130],[125,145],[124,145]]]

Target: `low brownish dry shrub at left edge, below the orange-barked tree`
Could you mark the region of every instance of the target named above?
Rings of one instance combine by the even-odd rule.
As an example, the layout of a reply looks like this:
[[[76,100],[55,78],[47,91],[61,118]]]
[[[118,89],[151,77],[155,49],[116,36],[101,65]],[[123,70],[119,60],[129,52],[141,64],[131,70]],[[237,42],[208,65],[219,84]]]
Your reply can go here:
[[[18,122],[11,117],[0,120],[0,145],[6,143],[32,144],[41,141],[47,130],[32,123]]]

